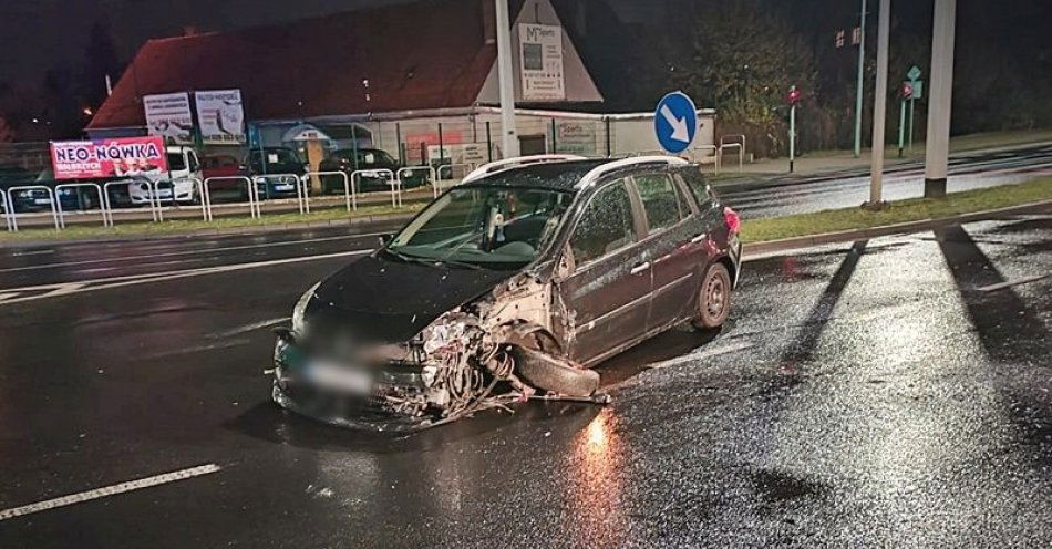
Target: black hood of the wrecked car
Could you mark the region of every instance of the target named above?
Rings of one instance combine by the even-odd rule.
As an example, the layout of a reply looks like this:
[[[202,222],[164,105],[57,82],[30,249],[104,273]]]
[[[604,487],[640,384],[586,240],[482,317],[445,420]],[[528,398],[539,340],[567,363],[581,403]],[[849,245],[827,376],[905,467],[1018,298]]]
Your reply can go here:
[[[402,342],[517,272],[403,262],[374,253],[322,281],[306,317],[308,322],[323,317],[363,340]]]

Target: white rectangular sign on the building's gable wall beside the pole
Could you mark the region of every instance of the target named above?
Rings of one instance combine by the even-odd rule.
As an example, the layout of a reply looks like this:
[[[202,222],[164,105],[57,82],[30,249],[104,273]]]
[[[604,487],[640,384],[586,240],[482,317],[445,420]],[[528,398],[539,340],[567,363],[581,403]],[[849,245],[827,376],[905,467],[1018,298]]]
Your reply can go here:
[[[555,24],[518,25],[523,101],[564,101],[563,28]]]

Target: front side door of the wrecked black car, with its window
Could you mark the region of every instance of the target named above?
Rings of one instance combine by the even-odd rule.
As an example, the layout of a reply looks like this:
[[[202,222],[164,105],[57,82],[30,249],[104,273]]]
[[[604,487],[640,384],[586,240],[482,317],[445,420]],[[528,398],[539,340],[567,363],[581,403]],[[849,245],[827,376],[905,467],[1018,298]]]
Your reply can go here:
[[[587,363],[644,333],[650,263],[639,246],[638,207],[626,179],[597,189],[581,210],[566,253],[571,271],[558,282],[570,319],[570,358]]]

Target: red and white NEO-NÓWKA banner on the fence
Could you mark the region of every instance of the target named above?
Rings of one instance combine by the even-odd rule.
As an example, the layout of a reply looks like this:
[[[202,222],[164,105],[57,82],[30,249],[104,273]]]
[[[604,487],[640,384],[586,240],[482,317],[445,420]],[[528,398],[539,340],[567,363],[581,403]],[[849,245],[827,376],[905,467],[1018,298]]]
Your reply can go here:
[[[55,179],[112,178],[167,172],[159,135],[51,142]]]

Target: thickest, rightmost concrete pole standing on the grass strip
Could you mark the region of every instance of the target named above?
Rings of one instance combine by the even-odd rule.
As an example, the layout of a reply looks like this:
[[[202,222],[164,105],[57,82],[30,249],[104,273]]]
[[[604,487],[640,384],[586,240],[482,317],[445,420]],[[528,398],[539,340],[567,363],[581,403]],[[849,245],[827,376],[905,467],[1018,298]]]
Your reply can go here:
[[[957,0],[935,0],[931,29],[931,89],[925,138],[925,198],[946,196],[950,154],[950,103],[953,91],[953,31]]]

